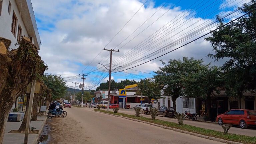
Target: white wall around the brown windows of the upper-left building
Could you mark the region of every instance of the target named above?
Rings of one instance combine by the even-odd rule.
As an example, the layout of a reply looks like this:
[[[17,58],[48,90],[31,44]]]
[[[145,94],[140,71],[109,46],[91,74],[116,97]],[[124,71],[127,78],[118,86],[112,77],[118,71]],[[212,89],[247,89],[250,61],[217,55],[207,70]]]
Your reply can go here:
[[[10,14],[8,13],[9,1],[12,4]],[[15,36],[11,32],[13,11],[17,17]],[[0,16],[0,37],[4,37],[6,39],[11,40],[12,43],[11,43],[10,48],[12,48],[12,49],[18,48],[18,46],[15,46],[14,44],[17,43],[18,26],[19,25],[22,28],[21,35],[22,36],[25,35],[26,37],[29,37],[27,30],[25,28],[25,25],[20,17],[20,12],[18,10],[15,0],[3,0],[2,11],[1,11],[1,16]]]

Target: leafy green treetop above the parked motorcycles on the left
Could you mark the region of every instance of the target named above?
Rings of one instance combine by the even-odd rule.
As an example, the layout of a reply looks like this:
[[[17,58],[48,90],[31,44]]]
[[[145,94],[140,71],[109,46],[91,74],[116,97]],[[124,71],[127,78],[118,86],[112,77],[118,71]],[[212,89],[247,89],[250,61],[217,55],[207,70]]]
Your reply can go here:
[[[51,89],[53,100],[62,98],[67,92],[66,81],[61,76],[43,75],[44,84]]]

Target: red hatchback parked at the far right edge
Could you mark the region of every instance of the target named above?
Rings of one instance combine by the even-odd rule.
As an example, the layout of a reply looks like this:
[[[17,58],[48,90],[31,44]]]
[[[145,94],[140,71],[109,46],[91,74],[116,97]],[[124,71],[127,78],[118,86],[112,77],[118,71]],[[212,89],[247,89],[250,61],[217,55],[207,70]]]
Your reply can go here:
[[[218,115],[216,121],[219,125],[239,125],[246,129],[249,125],[256,125],[256,111],[246,109],[231,109],[224,114]]]

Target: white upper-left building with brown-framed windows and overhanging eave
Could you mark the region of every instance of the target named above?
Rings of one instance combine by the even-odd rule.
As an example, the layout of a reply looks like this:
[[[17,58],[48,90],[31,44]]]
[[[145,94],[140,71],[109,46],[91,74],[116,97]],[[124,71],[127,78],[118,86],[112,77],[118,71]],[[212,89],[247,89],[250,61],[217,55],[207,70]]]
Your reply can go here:
[[[30,38],[40,50],[41,40],[31,0],[0,0],[0,37],[11,40],[10,48],[16,49],[18,46],[14,44],[22,36]]]

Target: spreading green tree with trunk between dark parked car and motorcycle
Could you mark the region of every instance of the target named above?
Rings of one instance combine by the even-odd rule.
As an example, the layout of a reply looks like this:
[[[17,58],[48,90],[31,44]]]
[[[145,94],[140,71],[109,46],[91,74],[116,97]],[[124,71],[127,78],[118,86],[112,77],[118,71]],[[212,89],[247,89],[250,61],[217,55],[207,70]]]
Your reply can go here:
[[[183,57],[182,60],[169,60],[168,64],[162,60],[161,62],[164,66],[154,72],[154,79],[161,85],[164,95],[172,97],[173,108],[176,111],[176,99],[179,96],[185,96],[182,86],[183,77],[198,72],[203,66],[203,60]]]

